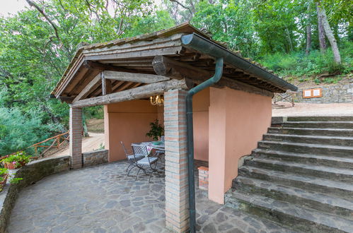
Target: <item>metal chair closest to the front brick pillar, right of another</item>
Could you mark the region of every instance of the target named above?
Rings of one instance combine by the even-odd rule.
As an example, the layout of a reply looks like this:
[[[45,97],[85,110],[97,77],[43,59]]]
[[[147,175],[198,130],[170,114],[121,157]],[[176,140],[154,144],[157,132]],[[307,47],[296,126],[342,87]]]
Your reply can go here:
[[[135,180],[137,180],[137,176],[139,175],[140,170],[144,171],[144,174],[146,174],[146,168],[149,167],[151,169],[151,174],[149,174],[149,181],[150,181],[151,176],[154,172],[157,172],[158,174],[158,169],[157,169],[158,157],[151,157],[149,155],[150,153],[149,153],[149,150],[147,150],[146,145],[132,144],[131,147],[135,156],[144,156],[143,159],[138,160],[136,162],[136,167],[139,167],[139,171],[137,171]]]

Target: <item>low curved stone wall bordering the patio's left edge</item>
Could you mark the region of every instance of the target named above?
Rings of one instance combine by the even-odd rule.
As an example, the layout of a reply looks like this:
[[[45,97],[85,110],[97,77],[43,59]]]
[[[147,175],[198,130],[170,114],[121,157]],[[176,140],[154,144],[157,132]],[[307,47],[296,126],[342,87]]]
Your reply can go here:
[[[6,231],[6,222],[16,201],[18,192],[51,174],[70,169],[70,156],[53,157],[28,163],[20,169],[11,170],[13,177],[23,178],[18,184],[6,184],[0,193],[0,232]]]

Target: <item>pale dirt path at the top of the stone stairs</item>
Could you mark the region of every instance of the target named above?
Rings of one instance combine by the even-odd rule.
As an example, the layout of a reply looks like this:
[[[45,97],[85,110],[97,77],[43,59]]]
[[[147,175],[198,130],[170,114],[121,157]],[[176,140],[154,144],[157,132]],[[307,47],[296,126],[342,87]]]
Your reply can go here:
[[[295,103],[294,107],[288,102],[284,108],[272,109],[272,117],[299,117],[299,116],[353,116],[353,103],[335,104],[306,104]]]

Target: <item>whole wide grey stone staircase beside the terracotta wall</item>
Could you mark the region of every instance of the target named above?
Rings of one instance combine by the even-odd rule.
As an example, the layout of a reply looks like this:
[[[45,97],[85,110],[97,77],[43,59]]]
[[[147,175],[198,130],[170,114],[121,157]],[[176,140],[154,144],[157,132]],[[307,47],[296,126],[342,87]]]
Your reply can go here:
[[[353,117],[288,117],[245,159],[226,205],[299,232],[353,232]]]

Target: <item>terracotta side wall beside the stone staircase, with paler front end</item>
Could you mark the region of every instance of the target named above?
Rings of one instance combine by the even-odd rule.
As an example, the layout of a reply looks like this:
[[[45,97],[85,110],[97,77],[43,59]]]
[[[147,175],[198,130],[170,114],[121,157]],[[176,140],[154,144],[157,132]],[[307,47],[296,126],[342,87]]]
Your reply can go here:
[[[209,198],[224,203],[238,160],[257,147],[271,123],[271,97],[229,88],[210,90]]]

